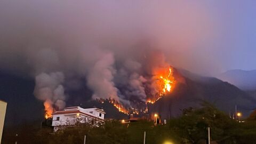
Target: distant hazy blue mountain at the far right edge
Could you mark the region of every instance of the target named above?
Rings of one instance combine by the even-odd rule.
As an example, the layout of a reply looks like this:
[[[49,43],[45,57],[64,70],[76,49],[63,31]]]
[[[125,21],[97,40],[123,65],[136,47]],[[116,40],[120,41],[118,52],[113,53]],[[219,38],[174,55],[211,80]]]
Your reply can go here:
[[[234,84],[239,89],[252,91],[256,90],[256,70],[229,70],[217,76],[219,79]]]

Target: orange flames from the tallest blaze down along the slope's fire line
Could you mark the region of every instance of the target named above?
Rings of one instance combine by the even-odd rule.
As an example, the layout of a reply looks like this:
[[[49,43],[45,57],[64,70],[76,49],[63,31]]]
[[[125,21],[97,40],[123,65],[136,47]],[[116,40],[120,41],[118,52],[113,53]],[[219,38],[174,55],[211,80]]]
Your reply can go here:
[[[130,100],[130,105],[127,105],[127,103],[122,103],[122,101],[117,101],[111,98],[98,99],[98,101],[100,103],[108,101],[112,103],[113,106],[118,109],[118,111],[127,115],[147,113],[147,103],[153,104],[162,97],[170,94],[175,84],[173,68],[171,66],[166,64],[165,67],[156,67],[153,68],[152,72],[153,74],[151,76],[143,76],[147,78],[146,83],[143,84],[143,90],[149,90],[147,97],[143,100],[143,102]],[[145,91],[143,92],[146,93]],[[135,96],[137,97],[137,95]]]

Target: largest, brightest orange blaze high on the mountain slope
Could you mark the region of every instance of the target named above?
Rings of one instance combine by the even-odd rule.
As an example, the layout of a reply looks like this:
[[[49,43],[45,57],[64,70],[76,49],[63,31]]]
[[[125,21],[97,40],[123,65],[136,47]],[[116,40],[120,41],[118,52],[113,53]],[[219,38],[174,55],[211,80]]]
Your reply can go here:
[[[147,103],[155,103],[157,100],[172,91],[175,80],[171,67],[154,69],[153,87],[157,91],[153,98],[149,98]]]

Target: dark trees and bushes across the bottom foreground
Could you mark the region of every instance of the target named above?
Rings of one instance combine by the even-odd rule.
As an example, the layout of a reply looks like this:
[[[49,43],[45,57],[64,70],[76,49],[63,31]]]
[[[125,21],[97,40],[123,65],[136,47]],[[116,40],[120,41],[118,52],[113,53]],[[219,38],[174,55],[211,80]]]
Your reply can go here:
[[[71,144],[83,143],[143,143],[143,132],[146,131],[146,143],[163,143],[165,140],[173,143],[205,143],[207,127],[211,127],[211,140],[217,143],[255,143],[256,121],[247,120],[239,123],[230,119],[209,103],[203,103],[201,108],[187,108],[183,115],[167,121],[167,124],[154,126],[153,122],[139,121],[122,124],[118,121],[106,122],[103,125],[92,126],[90,123],[76,123],[76,126],[65,127],[53,133],[49,127],[32,129],[23,126],[23,135],[16,139],[18,143]],[[29,136],[28,136],[29,135]],[[13,143],[14,138],[5,135],[3,143]]]

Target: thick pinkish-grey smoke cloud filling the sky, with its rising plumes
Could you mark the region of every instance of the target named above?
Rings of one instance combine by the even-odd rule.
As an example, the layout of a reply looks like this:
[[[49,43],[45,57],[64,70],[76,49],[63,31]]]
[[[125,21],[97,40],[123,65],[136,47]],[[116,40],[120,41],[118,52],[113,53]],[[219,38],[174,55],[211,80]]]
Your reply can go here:
[[[189,70],[206,66],[191,47],[212,37],[210,16],[191,2],[4,0],[0,68],[35,77],[36,97],[60,109],[64,75],[86,77],[94,99],[145,102],[143,73],[158,63],[147,53],[161,51],[171,65]]]

